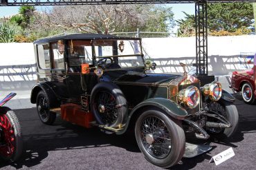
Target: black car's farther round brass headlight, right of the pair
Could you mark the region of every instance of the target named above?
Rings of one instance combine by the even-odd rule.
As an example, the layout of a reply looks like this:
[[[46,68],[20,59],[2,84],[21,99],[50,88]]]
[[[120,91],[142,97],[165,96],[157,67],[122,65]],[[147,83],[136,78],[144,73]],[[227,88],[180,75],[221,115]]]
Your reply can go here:
[[[203,86],[203,96],[209,96],[210,100],[219,100],[219,98],[221,98],[221,94],[221,83],[217,81],[213,81],[212,83]]]

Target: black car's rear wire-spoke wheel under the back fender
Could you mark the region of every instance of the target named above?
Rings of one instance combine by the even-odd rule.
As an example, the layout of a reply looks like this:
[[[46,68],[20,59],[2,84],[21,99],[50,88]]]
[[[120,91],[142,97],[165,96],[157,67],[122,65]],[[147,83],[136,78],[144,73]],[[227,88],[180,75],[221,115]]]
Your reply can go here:
[[[55,122],[56,114],[50,111],[48,97],[43,91],[37,94],[37,113],[42,123],[52,125]]]

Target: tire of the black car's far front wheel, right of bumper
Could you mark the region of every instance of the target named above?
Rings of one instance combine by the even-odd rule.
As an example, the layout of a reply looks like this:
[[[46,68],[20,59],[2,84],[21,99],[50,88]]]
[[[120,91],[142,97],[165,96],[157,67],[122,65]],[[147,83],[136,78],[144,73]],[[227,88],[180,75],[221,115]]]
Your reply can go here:
[[[235,131],[237,130],[237,124],[239,120],[237,107],[233,103],[226,102],[223,100],[219,102],[215,102],[214,105],[220,105],[226,111],[226,114],[221,114],[220,112],[219,114],[226,117],[226,119],[231,123],[232,127],[223,128],[223,130],[221,130],[219,133],[214,133],[214,134],[208,131],[209,134],[212,134],[214,138],[219,138],[219,139],[226,139],[226,138],[232,137],[232,135],[235,134]],[[217,110],[214,110],[214,111],[217,111]]]

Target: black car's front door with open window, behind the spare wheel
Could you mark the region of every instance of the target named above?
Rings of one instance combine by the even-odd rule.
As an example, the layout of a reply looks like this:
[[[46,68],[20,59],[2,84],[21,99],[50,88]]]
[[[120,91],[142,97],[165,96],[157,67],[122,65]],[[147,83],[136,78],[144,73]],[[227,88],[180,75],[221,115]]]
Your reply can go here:
[[[88,74],[82,74],[82,64],[88,63],[90,67],[93,67],[91,41],[68,41],[67,61],[66,83],[69,99],[73,103],[80,103],[81,96],[91,94],[91,89],[98,82],[93,68]]]

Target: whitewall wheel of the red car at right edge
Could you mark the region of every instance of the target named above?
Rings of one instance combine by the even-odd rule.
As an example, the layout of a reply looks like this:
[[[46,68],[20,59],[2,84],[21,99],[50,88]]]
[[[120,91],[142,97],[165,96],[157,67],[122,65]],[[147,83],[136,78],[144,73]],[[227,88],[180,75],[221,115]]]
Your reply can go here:
[[[244,103],[253,104],[255,103],[255,96],[253,95],[253,87],[250,83],[244,83],[241,87],[241,96],[243,97]]]

